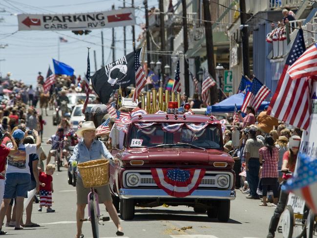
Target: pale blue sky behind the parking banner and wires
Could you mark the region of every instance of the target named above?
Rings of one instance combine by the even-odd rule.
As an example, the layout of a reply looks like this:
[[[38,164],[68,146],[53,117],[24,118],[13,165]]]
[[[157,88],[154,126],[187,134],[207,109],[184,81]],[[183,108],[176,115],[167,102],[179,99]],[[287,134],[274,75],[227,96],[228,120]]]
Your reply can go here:
[[[18,31],[18,18],[21,13],[85,13],[111,10],[123,6],[123,0],[0,0],[0,73],[5,76],[11,72],[11,78],[22,80],[25,84],[36,85],[38,72],[45,77],[48,66],[53,70],[52,59],[58,57],[59,37],[65,38],[67,43],[60,43],[60,61],[72,66],[76,75],[85,75],[87,67],[87,47],[90,48],[91,71],[95,71],[93,50],[96,50],[97,70],[102,65],[101,31],[104,32],[105,64],[111,63],[112,28],[92,30],[88,35],[75,35],[71,31]],[[148,8],[157,7],[157,0],[148,0]],[[126,7],[131,6],[131,0],[126,0]],[[145,23],[143,0],[134,0],[136,23],[135,38],[137,39]],[[127,53],[132,51],[131,26],[126,27]],[[14,34],[12,34],[14,33]],[[124,54],[123,27],[115,28],[116,58]],[[84,42],[86,41],[86,42]],[[3,61],[4,60],[4,61]]]

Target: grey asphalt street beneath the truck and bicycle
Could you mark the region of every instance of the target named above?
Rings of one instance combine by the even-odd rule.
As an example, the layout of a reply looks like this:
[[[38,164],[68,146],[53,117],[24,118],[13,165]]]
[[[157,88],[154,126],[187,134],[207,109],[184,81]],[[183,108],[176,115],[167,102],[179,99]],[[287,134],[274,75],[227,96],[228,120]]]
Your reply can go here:
[[[52,111],[49,111],[49,115]],[[47,125],[44,127],[44,142],[55,133],[51,116],[45,117]],[[47,153],[50,145],[42,144]],[[33,204],[32,221],[41,225],[37,228],[25,228],[15,231],[14,228],[4,227],[10,238],[73,238],[76,234],[76,190],[67,183],[67,171],[53,174],[53,206],[55,213],[46,213],[46,209],[38,212],[38,204]],[[124,221],[124,238],[265,238],[270,218],[275,208],[260,207],[260,200],[249,200],[240,191],[231,202],[231,216],[227,223],[209,219],[207,214],[196,214],[192,208],[136,207],[133,220]],[[87,212],[87,210],[85,211]],[[104,206],[101,213],[108,216]],[[25,214],[23,215],[25,220]],[[5,222],[5,220],[4,220]],[[116,227],[107,221],[99,226],[100,238],[116,237]],[[90,223],[83,226],[85,238],[91,238]],[[281,234],[276,235],[281,238]]]

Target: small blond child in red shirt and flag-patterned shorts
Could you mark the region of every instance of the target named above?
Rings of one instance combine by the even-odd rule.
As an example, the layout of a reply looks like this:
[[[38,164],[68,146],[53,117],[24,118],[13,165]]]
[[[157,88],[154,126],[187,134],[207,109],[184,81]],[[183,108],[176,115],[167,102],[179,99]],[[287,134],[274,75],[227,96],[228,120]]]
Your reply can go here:
[[[46,206],[46,212],[47,213],[54,213],[55,210],[51,208],[52,206],[52,193],[53,190],[53,177],[52,174],[55,171],[55,165],[48,164],[46,165],[46,173],[41,172],[39,174],[39,180],[40,180],[40,208],[39,212],[42,212],[42,207]]]

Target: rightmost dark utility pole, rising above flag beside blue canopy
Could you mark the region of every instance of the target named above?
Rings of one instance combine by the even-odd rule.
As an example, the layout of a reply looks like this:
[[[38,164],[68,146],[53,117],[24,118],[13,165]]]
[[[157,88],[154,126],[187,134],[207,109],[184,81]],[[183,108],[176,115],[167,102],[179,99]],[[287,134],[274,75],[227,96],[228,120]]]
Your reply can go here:
[[[247,22],[246,14],[246,1],[239,0],[240,2],[240,20],[243,26],[241,30],[241,40],[242,40],[242,62],[243,62],[243,74],[250,77],[250,60],[249,60],[249,34],[248,27],[245,26]]]

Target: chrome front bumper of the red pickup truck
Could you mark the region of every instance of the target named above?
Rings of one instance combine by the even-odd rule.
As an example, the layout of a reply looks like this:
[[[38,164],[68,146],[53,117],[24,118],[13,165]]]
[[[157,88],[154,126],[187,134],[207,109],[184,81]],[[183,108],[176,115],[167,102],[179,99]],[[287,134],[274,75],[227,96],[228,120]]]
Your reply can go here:
[[[168,195],[162,189],[120,189],[120,198],[176,198]],[[234,190],[195,190],[184,198],[198,199],[235,199]]]

